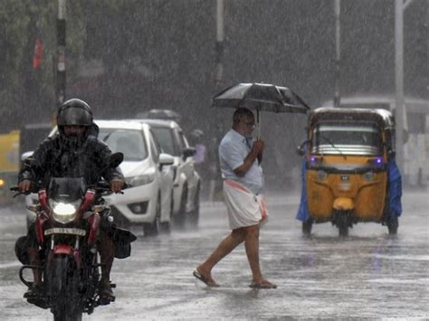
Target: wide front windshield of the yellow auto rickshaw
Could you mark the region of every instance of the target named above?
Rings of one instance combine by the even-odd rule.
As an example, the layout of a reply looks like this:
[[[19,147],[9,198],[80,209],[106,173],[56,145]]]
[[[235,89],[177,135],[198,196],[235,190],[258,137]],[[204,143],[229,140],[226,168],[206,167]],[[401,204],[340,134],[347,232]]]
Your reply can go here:
[[[321,124],[314,130],[312,152],[316,154],[379,154],[380,132],[370,124]]]

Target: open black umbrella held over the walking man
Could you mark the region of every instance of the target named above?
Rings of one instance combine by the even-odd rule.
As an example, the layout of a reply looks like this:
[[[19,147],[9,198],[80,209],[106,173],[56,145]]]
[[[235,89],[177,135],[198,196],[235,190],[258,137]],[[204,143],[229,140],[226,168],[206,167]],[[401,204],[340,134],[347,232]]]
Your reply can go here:
[[[245,107],[256,110],[258,137],[261,134],[261,110],[301,114],[310,110],[309,105],[289,88],[266,83],[238,83],[218,93],[213,99],[212,106],[233,109]]]

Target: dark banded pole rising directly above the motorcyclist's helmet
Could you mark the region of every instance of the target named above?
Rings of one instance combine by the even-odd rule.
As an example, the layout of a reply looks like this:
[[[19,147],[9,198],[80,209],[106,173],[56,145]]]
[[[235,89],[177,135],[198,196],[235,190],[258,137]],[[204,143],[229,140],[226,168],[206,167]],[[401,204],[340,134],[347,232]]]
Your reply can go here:
[[[66,0],[58,0],[58,19],[57,19],[57,104],[61,106],[65,99],[65,18],[66,18]]]

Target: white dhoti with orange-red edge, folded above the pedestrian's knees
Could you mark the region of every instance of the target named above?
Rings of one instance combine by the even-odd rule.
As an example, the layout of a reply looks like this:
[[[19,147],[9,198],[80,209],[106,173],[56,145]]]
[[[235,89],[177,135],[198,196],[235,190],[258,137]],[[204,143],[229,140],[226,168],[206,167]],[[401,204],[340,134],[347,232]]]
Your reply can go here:
[[[233,180],[224,181],[224,201],[232,230],[259,224],[268,217],[263,196]]]

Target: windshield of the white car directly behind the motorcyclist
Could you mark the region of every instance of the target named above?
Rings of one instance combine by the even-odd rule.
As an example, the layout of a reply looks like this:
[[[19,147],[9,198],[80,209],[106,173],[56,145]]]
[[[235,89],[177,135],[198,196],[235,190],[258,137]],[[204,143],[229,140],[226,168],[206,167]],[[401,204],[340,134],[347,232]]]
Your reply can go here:
[[[148,157],[148,149],[140,130],[100,128],[99,138],[113,153],[123,153],[125,161],[140,161]]]

